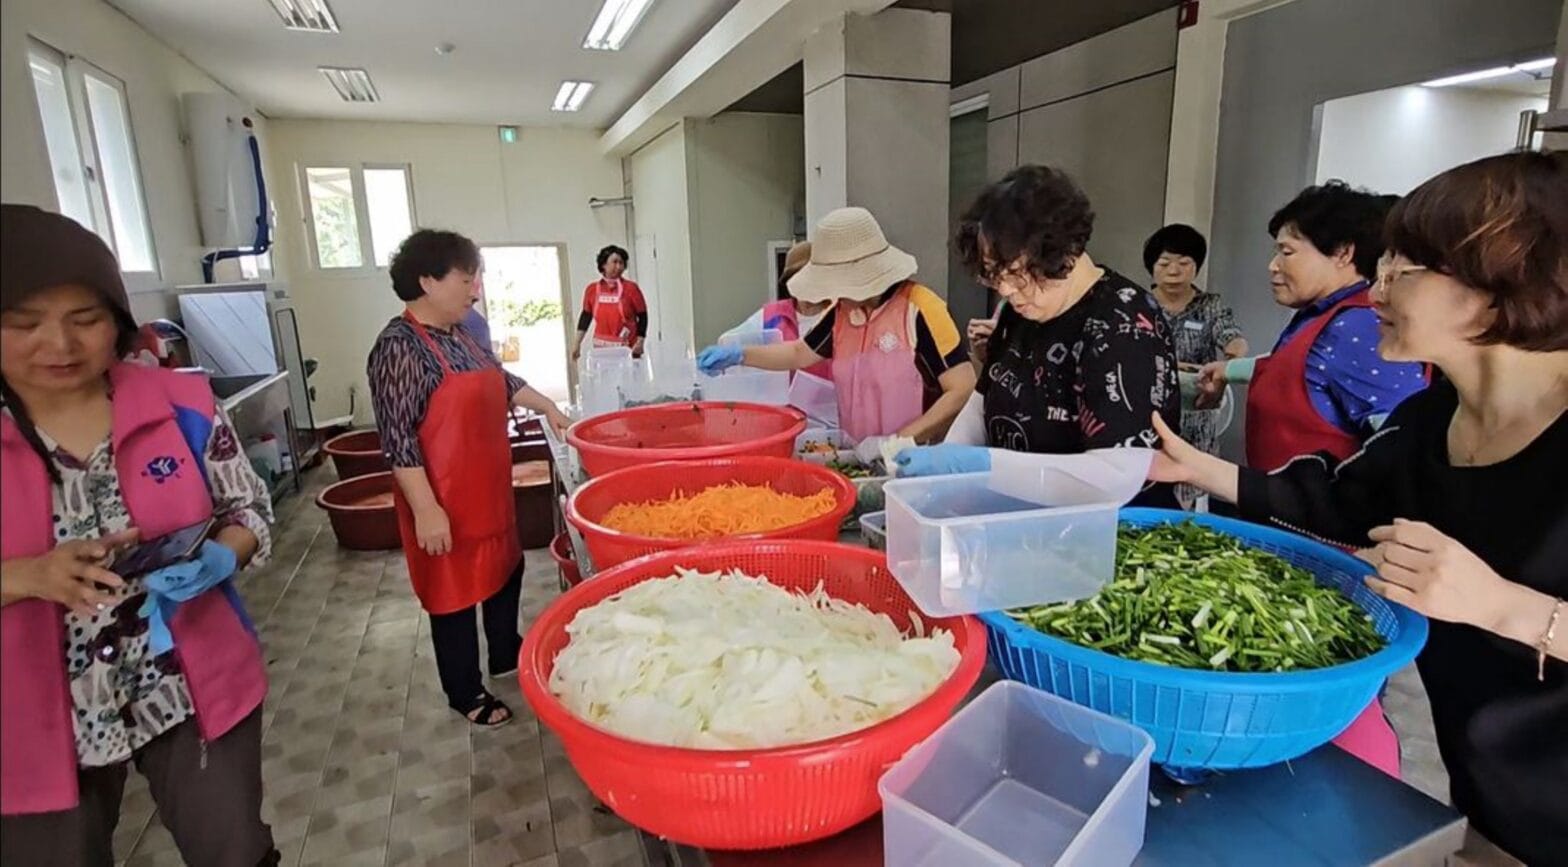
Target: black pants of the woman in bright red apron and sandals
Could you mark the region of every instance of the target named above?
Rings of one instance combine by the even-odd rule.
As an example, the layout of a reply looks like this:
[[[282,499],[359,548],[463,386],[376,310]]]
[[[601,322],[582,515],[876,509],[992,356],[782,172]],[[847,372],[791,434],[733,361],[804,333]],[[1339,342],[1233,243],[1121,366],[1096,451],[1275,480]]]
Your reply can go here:
[[[485,613],[485,643],[489,646],[489,673],[499,674],[517,668],[522,637],[517,635],[517,599],[522,596],[522,558],[506,579],[506,583],[480,605],[430,615],[430,640],[436,646],[436,671],[441,673],[441,690],[455,710],[469,710],[485,691],[480,677],[480,635],[474,624],[474,610]]]

